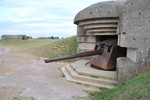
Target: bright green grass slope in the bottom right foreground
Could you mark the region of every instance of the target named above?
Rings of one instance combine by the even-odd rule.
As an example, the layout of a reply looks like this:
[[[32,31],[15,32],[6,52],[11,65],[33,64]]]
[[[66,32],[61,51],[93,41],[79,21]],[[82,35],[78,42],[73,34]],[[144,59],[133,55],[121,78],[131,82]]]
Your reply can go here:
[[[150,71],[123,83],[116,89],[100,88],[89,93],[90,100],[150,100]]]

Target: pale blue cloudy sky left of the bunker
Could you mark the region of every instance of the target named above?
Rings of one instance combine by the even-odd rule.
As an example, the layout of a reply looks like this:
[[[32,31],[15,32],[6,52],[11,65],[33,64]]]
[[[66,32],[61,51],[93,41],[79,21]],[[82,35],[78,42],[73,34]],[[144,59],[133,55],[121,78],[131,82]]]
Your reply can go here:
[[[110,0],[0,0],[0,36],[74,36],[75,15],[101,1]]]

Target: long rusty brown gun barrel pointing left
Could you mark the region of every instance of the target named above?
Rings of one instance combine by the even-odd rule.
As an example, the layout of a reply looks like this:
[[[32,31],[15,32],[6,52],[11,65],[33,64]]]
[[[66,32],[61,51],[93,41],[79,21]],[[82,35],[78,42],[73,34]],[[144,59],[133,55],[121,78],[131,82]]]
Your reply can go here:
[[[68,55],[68,56],[64,56],[64,57],[45,59],[45,63],[49,63],[49,62],[53,62],[53,61],[59,61],[59,60],[72,59],[72,58],[77,58],[77,57],[101,55],[102,53],[103,53],[103,49],[92,50],[92,51],[87,51],[87,52],[78,53],[78,54],[74,54],[74,55]]]

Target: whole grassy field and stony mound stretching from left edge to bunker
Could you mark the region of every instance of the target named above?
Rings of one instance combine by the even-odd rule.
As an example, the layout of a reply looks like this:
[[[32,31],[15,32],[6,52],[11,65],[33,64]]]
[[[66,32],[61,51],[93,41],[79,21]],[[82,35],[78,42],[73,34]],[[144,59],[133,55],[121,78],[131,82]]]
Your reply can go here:
[[[38,57],[54,58],[76,53],[77,36],[65,39],[32,39],[32,40],[5,40],[1,46],[8,46],[17,52],[28,52]],[[65,60],[73,62],[75,59]]]

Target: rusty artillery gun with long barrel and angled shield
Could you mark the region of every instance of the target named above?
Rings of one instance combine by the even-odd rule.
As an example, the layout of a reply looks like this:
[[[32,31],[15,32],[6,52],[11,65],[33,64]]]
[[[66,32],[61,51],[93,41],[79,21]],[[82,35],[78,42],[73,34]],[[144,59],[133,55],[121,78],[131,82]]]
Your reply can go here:
[[[117,58],[125,57],[126,49],[117,46],[117,39],[108,39],[97,42],[94,50],[92,51],[68,55],[64,57],[45,59],[45,63],[86,56],[92,56],[90,63],[94,66],[100,67],[105,70],[115,69]]]

